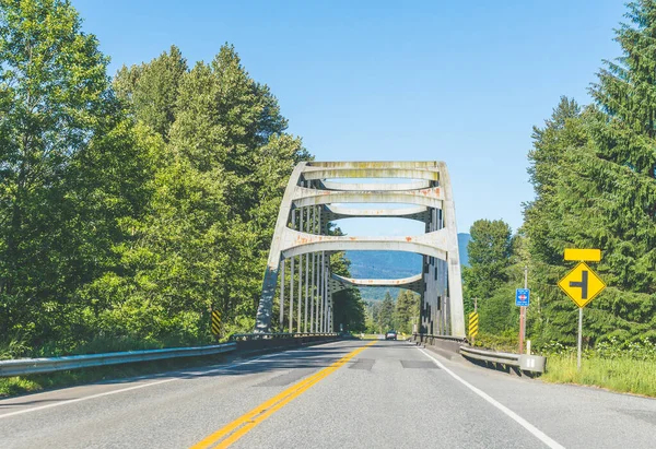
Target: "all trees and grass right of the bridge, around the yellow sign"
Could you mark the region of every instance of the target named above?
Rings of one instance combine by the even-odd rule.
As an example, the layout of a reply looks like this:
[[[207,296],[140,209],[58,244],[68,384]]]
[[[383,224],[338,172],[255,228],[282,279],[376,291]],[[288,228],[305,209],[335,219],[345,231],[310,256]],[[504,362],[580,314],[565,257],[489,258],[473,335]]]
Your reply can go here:
[[[528,174],[535,199],[516,233],[480,220],[464,270],[466,311],[478,300],[477,345],[517,348],[515,288],[528,269],[527,339],[548,355],[547,381],[655,395],[656,2],[628,4],[616,32],[620,58],[590,84],[594,102],[562,97],[535,127]],[[599,248],[591,268],[608,284],[584,309],[583,369],[576,370],[577,307],[557,286],[575,263],[565,248]]]

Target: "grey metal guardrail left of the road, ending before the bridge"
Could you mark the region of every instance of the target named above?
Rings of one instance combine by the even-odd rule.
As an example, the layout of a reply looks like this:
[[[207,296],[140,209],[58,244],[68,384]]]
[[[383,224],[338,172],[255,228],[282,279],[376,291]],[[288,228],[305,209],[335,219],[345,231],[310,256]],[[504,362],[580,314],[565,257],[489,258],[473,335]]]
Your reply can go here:
[[[118,353],[69,355],[48,358],[16,358],[0,361],[0,377],[62,371],[67,369],[92,368],[137,362],[151,362],[164,358],[194,357],[236,351],[236,343],[210,346],[171,347],[166,350],[126,351]]]

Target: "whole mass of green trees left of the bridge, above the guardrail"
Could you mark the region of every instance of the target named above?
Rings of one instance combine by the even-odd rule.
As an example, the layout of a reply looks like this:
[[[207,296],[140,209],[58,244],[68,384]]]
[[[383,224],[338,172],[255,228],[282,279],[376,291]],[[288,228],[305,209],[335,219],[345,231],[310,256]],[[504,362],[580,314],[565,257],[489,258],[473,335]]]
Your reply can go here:
[[[211,309],[253,330],[312,155],[232,45],[153,56],[110,76],[69,1],[0,0],[0,358],[210,343]]]

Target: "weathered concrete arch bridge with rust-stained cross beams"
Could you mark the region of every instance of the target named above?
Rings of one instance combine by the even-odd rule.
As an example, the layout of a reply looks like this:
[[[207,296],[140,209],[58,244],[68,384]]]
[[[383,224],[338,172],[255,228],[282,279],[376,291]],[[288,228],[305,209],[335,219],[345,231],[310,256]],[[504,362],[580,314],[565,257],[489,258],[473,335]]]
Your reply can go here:
[[[344,182],[379,178],[385,182]],[[354,209],[352,203],[389,203]],[[399,206],[402,205],[402,206]],[[352,217],[419,221],[412,236],[336,236],[331,222]],[[342,250],[422,255],[422,271],[407,279],[347,279],[330,270]],[[375,261],[373,261],[375,263]],[[290,177],[271,243],[256,332],[331,332],[332,294],[358,286],[401,287],[421,295],[421,331],[465,336],[454,197],[443,162],[304,162]],[[273,309],[278,308],[278,320]]]

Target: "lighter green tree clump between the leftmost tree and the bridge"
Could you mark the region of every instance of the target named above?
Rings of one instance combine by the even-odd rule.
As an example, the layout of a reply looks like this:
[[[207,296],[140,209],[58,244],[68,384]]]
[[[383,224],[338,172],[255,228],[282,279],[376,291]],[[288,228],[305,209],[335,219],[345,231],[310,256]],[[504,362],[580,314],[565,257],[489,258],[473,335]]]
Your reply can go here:
[[[133,322],[139,334],[209,336],[213,307],[225,332],[250,330],[286,180],[309,157],[301,140],[283,132],[276,98],[232,46],[191,70],[172,47],[121,69],[114,85],[150,132],[156,168],[138,243],[124,257],[134,273],[118,282],[125,307],[107,321]],[[145,305],[159,317],[152,326]]]

